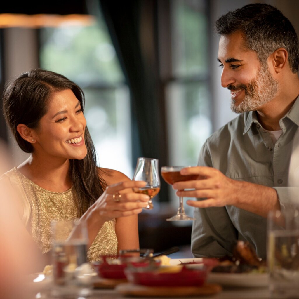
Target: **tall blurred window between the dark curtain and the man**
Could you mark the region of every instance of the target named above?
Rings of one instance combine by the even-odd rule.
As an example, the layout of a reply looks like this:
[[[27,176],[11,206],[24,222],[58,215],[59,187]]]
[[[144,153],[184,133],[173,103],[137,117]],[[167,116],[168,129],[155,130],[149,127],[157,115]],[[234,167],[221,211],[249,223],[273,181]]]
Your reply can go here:
[[[163,71],[168,73],[164,85],[171,165],[197,165],[199,150],[212,133],[207,16],[207,1],[170,1],[171,58]],[[177,207],[178,197],[172,188],[170,192]],[[187,205],[185,209],[192,213]]]

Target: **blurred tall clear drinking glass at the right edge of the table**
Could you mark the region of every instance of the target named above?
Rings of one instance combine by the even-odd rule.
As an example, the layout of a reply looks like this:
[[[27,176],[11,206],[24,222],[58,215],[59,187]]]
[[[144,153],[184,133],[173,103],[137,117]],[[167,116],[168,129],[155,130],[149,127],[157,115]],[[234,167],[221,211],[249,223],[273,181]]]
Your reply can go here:
[[[271,298],[298,298],[298,207],[269,213],[267,261]]]

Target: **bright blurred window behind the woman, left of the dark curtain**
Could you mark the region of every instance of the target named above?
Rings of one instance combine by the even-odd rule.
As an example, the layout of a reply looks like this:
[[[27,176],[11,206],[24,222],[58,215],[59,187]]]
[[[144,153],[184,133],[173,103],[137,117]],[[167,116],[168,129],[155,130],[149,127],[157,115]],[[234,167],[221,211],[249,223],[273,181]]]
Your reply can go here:
[[[101,167],[132,177],[129,88],[103,19],[40,30],[40,66],[77,83]]]

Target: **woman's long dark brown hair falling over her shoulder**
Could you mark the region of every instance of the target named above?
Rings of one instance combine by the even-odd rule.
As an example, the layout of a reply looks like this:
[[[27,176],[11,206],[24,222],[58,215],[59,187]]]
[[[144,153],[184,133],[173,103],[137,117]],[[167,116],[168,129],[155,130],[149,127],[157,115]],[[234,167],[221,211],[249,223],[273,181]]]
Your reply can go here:
[[[80,87],[65,76],[52,71],[30,70],[6,84],[3,93],[4,116],[24,152],[33,152],[33,146],[19,135],[18,124],[38,128],[39,120],[47,112],[52,94],[65,89],[73,91],[83,109],[85,98]],[[84,136],[87,155],[82,160],[70,159],[69,169],[78,198],[78,216],[81,216],[106,188],[106,182],[98,174],[96,152],[87,127]]]

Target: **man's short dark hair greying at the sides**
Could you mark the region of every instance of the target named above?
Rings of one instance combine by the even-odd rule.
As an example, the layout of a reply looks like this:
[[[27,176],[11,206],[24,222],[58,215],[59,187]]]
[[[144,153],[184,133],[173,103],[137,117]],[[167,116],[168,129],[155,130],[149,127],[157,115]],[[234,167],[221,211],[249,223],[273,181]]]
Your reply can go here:
[[[278,48],[289,53],[289,65],[293,73],[298,72],[298,37],[288,18],[280,10],[265,3],[248,4],[221,16],[215,24],[218,34],[229,35],[241,31],[247,47],[257,52],[265,63]]]

